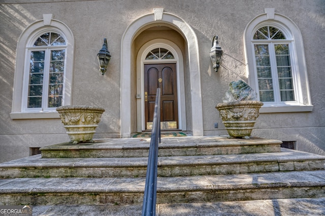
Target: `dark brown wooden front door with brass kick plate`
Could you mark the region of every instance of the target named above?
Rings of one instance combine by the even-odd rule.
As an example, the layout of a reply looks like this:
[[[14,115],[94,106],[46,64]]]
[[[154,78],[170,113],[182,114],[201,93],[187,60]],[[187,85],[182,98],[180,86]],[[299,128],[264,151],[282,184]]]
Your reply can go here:
[[[152,129],[157,88],[160,95],[161,129],[178,129],[176,64],[145,64],[145,129]]]

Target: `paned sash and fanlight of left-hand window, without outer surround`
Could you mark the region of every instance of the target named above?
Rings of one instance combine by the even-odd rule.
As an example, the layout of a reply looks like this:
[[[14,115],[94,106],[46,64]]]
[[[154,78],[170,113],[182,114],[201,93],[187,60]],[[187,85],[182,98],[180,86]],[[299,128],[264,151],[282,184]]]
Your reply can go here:
[[[67,44],[56,32],[40,35],[28,51],[25,110],[48,110],[62,105]]]

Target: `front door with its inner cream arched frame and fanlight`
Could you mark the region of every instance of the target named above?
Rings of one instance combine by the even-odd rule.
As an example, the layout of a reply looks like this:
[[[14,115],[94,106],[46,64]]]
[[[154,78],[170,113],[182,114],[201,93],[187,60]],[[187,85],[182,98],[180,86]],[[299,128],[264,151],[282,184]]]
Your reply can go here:
[[[149,70],[153,77],[148,74]],[[156,78],[154,78],[155,75],[157,75]],[[148,83],[150,78],[153,79],[151,87]],[[137,111],[137,132],[150,130],[150,101],[154,99],[150,98],[150,95],[155,95],[156,87],[163,90],[161,91],[163,97],[161,100],[162,128],[186,131],[183,55],[180,48],[167,39],[150,40],[138,52],[137,107],[141,109]],[[149,90],[153,92],[150,93]]]

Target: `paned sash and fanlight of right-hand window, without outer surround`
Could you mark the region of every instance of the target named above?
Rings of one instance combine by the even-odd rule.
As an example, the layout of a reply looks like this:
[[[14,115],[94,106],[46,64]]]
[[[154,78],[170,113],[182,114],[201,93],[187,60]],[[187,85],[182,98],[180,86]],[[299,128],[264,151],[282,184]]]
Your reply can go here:
[[[296,101],[291,40],[274,26],[258,28],[252,38],[259,100],[283,103]]]

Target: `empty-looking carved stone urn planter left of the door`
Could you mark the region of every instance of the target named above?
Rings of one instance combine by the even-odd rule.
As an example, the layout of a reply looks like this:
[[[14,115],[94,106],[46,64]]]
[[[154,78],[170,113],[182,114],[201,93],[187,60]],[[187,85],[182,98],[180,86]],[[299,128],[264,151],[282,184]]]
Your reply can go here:
[[[71,143],[93,142],[95,128],[105,109],[92,106],[61,106],[56,108]]]

